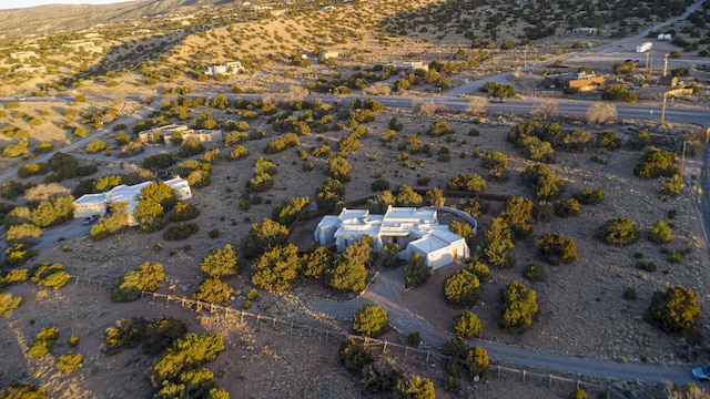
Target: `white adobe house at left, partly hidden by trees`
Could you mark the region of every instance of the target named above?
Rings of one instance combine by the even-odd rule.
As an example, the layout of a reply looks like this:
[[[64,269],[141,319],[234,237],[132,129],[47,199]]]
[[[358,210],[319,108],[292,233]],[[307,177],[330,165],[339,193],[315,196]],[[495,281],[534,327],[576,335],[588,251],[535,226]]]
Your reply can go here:
[[[173,188],[175,198],[184,201],[192,198],[192,191],[186,180],[182,177],[171,178],[164,182]],[[141,201],[141,192],[153,182],[143,182],[134,185],[118,185],[105,193],[84,194],[74,200],[74,218],[89,217],[91,215],[105,215],[110,204],[122,202],[128,205],[129,226],[136,226],[133,219],[133,209]]]

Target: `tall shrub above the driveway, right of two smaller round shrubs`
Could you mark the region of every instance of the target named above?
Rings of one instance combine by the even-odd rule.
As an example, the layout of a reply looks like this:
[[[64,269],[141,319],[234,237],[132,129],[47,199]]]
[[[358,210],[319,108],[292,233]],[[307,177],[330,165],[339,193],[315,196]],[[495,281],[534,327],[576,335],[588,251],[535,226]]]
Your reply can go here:
[[[518,282],[510,282],[501,291],[503,306],[498,315],[500,327],[508,332],[519,334],[532,324],[532,315],[538,310],[537,294]]]

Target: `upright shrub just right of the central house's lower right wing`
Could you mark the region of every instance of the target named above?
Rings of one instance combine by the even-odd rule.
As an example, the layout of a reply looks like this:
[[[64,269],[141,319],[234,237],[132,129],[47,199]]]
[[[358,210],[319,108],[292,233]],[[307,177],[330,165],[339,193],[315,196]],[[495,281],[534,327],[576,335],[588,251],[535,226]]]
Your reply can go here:
[[[513,231],[500,217],[493,218],[484,232],[484,239],[476,246],[476,256],[487,265],[510,267],[515,264]]]

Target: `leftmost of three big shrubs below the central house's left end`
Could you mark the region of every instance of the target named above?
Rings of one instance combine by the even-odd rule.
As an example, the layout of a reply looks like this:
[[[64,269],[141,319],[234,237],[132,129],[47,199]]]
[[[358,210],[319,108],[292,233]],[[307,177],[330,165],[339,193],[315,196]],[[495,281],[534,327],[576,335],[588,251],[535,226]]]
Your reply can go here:
[[[252,284],[273,293],[284,291],[298,277],[301,264],[298,247],[274,246],[252,264]]]

